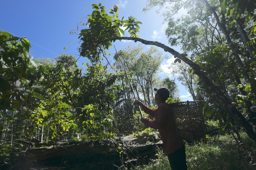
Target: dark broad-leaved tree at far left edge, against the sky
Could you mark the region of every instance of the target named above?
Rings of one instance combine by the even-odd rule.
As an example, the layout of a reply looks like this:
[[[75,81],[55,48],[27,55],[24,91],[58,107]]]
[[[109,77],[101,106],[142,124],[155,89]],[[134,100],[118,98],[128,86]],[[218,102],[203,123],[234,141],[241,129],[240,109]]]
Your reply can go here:
[[[31,46],[25,37],[14,37],[4,31],[0,31],[0,45],[0,110],[13,111],[22,103],[21,97],[26,98],[15,82],[30,81],[32,84],[36,78],[33,61],[27,56]]]

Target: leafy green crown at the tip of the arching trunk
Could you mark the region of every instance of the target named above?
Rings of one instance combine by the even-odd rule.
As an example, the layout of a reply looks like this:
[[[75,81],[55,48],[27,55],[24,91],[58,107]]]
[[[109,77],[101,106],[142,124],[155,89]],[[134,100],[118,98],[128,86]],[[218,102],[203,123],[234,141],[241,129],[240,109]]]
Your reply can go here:
[[[141,22],[137,21],[132,16],[128,17],[128,20],[120,20],[116,13],[119,8],[114,5],[114,9],[110,9],[109,14],[106,12],[105,7],[92,4],[92,8],[95,9],[91,15],[87,15],[89,29],[82,29],[79,38],[81,38],[82,44],[79,52],[81,56],[87,57],[92,63],[100,60],[100,54],[107,54],[104,50],[108,50],[112,46],[112,41],[115,41],[116,37],[121,37],[120,32],[124,35],[124,31],[121,27],[127,27],[131,37],[138,37],[139,25]]]

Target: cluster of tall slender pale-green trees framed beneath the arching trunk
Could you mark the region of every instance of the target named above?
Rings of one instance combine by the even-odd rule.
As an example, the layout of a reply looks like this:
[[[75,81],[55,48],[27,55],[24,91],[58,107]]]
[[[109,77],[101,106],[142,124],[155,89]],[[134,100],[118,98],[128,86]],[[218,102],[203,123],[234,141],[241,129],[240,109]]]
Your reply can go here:
[[[134,48],[128,46],[126,50],[121,50],[118,54],[123,62],[125,62],[127,71],[130,72],[132,83],[138,95],[137,97],[139,98],[139,94],[142,94],[145,103],[155,105],[153,85],[157,84],[157,82],[154,82],[154,80],[156,80],[163,59],[167,58],[167,56],[163,57],[162,53],[154,47],[150,47],[147,51],[143,52],[143,47],[141,46]],[[115,54],[114,59],[114,65],[122,70],[117,54]],[[138,85],[139,88],[137,88]]]

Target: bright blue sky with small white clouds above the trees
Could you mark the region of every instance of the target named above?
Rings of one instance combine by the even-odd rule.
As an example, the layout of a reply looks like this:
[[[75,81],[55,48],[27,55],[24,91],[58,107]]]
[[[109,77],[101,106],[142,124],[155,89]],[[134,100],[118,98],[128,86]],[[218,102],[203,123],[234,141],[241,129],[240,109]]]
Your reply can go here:
[[[113,8],[114,4],[118,5],[119,18],[124,16],[124,19],[127,19],[128,16],[133,16],[143,23],[140,25],[141,29],[138,34],[140,38],[168,45],[168,39],[164,33],[167,24],[163,24],[163,18],[161,14],[155,12],[156,9],[146,13],[142,12],[146,7],[145,0],[1,1],[0,31],[6,30],[19,37],[27,37],[31,43],[30,53],[34,58],[55,58],[64,51],[65,47],[67,47],[66,54],[72,54],[78,58],[78,35],[69,35],[69,32],[72,29],[77,29],[81,20],[84,23],[87,22],[85,17],[92,13],[91,5],[94,3],[102,3],[106,11]],[[185,11],[181,11],[178,15],[183,14],[182,12],[185,14]],[[79,26],[79,29],[82,28],[87,28],[87,26]],[[125,33],[125,36],[129,35]],[[140,42],[116,41],[114,44],[117,50],[121,50],[125,49],[127,45],[137,46]],[[182,52],[180,47],[172,48]],[[114,54],[114,50],[114,48],[110,48],[109,52]],[[173,56],[161,48],[158,50],[163,52],[163,55],[169,56],[169,59],[164,60],[161,66],[164,72],[160,73],[160,76],[164,78],[168,75],[168,66],[173,62]],[[113,62],[111,56],[108,58]],[[78,60],[79,64],[84,62],[88,62],[88,59],[80,58]],[[83,66],[79,65],[79,67]],[[173,78],[173,76],[171,77]],[[188,97],[185,87],[180,82],[176,82],[180,90],[180,99],[182,101],[192,100],[191,97]]]

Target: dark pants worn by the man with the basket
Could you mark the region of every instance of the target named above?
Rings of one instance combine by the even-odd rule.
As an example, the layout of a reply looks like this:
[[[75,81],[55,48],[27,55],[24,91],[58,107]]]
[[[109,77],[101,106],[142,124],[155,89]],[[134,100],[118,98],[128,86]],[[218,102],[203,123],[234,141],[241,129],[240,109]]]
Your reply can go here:
[[[187,170],[185,145],[167,156],[172,170]]]

